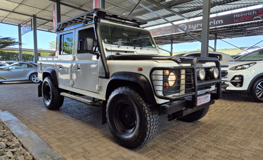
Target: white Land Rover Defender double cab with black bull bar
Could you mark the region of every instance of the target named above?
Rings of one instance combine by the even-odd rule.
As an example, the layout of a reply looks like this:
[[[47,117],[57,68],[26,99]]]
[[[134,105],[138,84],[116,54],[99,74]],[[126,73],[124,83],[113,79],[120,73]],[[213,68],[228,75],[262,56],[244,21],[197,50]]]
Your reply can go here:
[[[139,28],[146,23],[103,9],[60,22],[56,56],[38,60],[46,107],[59,109],[64,97],[99,106],[102,123],[128,148],[155,137],[159,115],[204,117],[222,94],[219,60],[161,56],[151,33]]]

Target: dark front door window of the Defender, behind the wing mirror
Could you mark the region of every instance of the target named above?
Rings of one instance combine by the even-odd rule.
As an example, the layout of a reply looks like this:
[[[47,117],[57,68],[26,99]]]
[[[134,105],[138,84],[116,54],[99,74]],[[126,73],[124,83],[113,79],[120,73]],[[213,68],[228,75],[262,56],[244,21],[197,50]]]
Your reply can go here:
[[[95,49],[95,46],[97,45],[96,38],[95,38],[95,32],[94,28],[87,28],[79,31],[79,39],[78,39],[78,54],[80,53],[88,53],[88,51],[85,51],[85,39],[86,38],[92,38],[94,40],[93,44],[93,51]]]

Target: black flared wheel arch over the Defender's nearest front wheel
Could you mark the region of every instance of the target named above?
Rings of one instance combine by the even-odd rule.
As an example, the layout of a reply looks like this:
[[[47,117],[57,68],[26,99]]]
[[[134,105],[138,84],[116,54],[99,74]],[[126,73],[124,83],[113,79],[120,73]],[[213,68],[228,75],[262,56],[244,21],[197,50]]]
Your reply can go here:
[[[107,85],[106,99],[110,96],[111,92],[113,92],[114,89],[121,86],[133,85],[138,86],[139,89],[141,89],[144,92],[144,95],[146,96],[149,102],[156,103],[153,94],[153,88],[147,77],[140,73],[128,71],[120,71],[112,74]]]

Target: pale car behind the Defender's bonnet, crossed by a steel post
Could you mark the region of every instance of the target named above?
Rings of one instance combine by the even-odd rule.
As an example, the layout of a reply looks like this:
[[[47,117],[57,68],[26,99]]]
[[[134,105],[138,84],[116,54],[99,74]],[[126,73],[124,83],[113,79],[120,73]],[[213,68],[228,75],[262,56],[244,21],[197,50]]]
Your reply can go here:
[[[201,57],[201,51],[186,52],[186,53],[177,54],[175,56]],[[208,57],[217,58],[221,64],[222,63],[228,63],[229,61],[233,60],[228,54],[225,54],[222,52],[209,51]]]

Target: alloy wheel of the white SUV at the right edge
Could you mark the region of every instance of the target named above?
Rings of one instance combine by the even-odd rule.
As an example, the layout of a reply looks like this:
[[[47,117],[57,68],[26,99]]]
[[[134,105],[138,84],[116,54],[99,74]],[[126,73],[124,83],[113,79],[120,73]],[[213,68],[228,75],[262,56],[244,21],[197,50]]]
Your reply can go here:
[[[248,93],[248,97],[256,102],[263,102],[263,78],[256,80]]]

